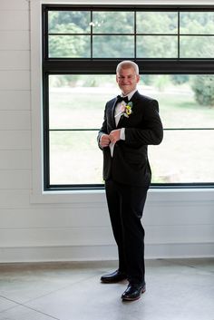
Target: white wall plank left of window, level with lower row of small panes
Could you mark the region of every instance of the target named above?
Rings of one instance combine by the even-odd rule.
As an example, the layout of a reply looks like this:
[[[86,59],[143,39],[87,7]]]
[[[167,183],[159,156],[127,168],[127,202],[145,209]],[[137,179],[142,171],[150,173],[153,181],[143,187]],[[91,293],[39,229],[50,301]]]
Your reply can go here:
[[[0,50],[30,50],[29,40],[29,31],[0,30]]]

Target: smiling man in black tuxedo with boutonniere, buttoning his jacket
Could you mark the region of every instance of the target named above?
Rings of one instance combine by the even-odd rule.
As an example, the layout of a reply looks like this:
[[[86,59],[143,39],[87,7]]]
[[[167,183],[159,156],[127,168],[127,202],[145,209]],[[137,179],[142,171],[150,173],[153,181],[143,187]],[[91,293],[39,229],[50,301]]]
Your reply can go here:
[[[148,145],[162,141],[159,104],[137,91],[140,80],[136,63],[123,61],[116,70],[122,96],[106,103],[98,134],[103,151],[105,180],[112,231],[118,246],[119,267],[101,277],[102,283],[128,279],[122,300],[132,301],[145,292],[144,229],[141,225],[151,184]]]

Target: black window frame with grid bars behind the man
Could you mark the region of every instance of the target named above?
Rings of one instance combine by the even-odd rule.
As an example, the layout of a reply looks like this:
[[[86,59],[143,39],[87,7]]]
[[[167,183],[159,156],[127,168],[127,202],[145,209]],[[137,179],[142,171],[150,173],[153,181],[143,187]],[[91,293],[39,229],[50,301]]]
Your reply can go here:
[[[48,57],[48,12],[49,11],[147,11],[147,12],[177,12],[178,38],[180,37],[180,12],[213,11],[214,5],[42,5],[42,69],[43,69],[43,137],[44,137],[44,190],[73,190],[73,189],[103,189],[103,184],[50,184],[50,154],[49,154],[49,83],[51,74],[115,74],[116,66],[122,60],[132,60],[139,65],[142,74],[214,74],[214,59],[209,58],[180,58],[180,42],[178,42],[177,58],[49,58]],[[136,16],[136,15],[135,15]],[[135,25],[136,38],[136,25]],[[92,33],[92,31],[91,31]],[[151,34],[155,35],[155,34]],[[166,34],[164,34],[166,35]],[[186,34],[198,35],[198,34]],[[210,35],[210,34],[199,34]],[[92,45],[92,42],[91,42]],[[135,40],[136,48],[136,40]],[[92,50],[91,50],[92,53]],[[87,129],[98,131],[99,129]],[[164,128],[164,131],[177,129]],[[178,130],[211,130],[214,128],[190,128]],[[73,131],[75,131],[73,129]],[[81,131],[81,129],[79,130]],[[151,188],[213,188],[211,183],[152,183]]]

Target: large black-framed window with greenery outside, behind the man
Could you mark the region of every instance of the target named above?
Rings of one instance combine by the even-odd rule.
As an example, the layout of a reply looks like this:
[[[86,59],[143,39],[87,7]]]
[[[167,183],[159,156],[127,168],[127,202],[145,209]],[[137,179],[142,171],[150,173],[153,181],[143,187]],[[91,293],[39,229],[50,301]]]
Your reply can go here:
[[[214,8],[44,5],[43,17],[44,189],[102,187],[96,136],[123,59],[160,103],[152,185],[214,184]]]

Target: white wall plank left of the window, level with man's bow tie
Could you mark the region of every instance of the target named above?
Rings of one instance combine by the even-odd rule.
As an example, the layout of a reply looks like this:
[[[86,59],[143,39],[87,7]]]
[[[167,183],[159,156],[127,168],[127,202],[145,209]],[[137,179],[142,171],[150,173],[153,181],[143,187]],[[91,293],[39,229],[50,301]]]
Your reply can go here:
[[[1,91],[0,111],[30,110],[30,91]]]

